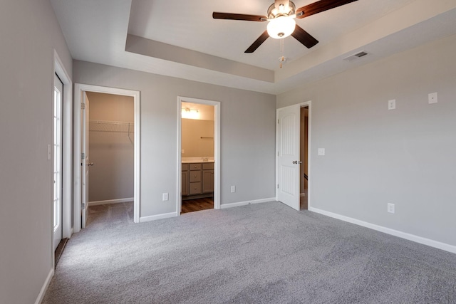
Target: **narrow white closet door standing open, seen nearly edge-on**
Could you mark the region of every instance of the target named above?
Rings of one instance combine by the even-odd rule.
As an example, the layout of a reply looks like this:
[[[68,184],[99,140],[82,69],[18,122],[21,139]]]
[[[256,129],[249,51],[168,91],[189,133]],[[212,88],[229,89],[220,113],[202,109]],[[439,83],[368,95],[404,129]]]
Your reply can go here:
[[[84,93],[85,97],[85,102],[84,106],[81,107],[81,137],[82,137],[82,142],[81,142],[81,151],[83,153],[83,159],[81,161],[82,165],[82,193],[81,193],[81,198],[82,198],[82,223],[81,226],[82,228],[86,228],[86,223],[87,223],[87,217],[88,217],[88,171],[89,167],[93,165],[93,163],[90,162],[89,159],[89,154],[88,154],[88,97],[87,94]]]

